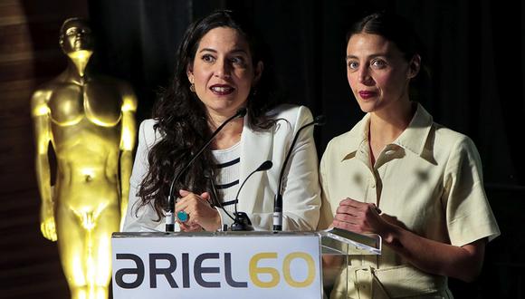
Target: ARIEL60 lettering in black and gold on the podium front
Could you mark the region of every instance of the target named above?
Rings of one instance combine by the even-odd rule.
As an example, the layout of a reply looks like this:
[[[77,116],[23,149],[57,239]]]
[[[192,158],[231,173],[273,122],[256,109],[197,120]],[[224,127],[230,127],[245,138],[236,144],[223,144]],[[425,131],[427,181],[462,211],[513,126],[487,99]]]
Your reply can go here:
[[[314,258],[305,252],[292,252],[284,256],[282,265],[262,266],[264,261],[278,260],[277,252],[264,252],[255,254],[248,263],[249,281],[261,288],[271,288],[279,285],[283,280],[292,287],[308,287],[313,284],[316,276]],[[120,268],[115,272],[115,283],[121,288],[132,289],[144,284],[146,273],[149,276],[149,287],[157,288],[159,280],[164,279],[171,288],[190,288],[192,284],[205,288],[220,288],[222,282],[234,288],[247,288],[248,281],[236,280],[234,278],[234,267],[232,266],[232,254],[204,253],[196,256],[190,262],[190,254],[182,253],[176,256],[167,253],[149,254],[148,261],[142,260],[140,256],[133,254],[117,254],[117,260],[133,261],[135,266]],[[167,266],[159,266],[159,264]],[[306,272],[294,277],[291,271],[292,263],[302,263]],[[270,263],[276,264],[276,263]],[[205,266],[207,265],[207,266]],[[178,271],[181,279],[177,282],[175,274]],[[213,275],[212,275],[213,274]],[[205,278],[206,275],[210,278]],[[215,280],[212,278],[215,276]],[[126,282],[125,277],[129,281]],[[220,278],[220,279],[217,279]]]

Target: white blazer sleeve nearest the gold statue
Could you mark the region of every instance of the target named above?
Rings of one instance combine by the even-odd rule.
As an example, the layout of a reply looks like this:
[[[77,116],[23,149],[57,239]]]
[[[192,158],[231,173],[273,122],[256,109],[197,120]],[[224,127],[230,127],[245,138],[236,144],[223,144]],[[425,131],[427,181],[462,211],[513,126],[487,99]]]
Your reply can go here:
[[[138,148],[129,178],[129,204],[122,228],[124,232],[164,231],[164,222],[158,219],[155,208],[151,205],[140,207],[140,198],[137,195],[140,183],[148,173],[148,152],[152,146],[148,137],[155,136],[152,122],[142,121],[138,129]]]

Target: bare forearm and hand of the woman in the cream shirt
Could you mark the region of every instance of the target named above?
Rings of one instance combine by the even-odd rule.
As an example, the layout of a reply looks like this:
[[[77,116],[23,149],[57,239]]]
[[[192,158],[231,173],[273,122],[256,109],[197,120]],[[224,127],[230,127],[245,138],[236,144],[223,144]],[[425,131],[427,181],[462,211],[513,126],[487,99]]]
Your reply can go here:
[[[344,199],[332,225],[355,233],[381,236],[386,246],[410,264],[434,275],[446,275],[471,282],[482,269],[486,238],[463,246],[418,236],[388,215],[379,216],[376,205]]]

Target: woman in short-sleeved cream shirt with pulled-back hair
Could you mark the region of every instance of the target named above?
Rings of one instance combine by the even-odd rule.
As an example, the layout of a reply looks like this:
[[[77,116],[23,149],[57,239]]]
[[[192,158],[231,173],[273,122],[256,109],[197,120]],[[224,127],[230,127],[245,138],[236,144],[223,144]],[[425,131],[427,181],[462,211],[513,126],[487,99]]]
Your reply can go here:
[[[329,142],[320,164],[320,227],[374,233],[381,256],[353,258],[339,298],[451,298],[447,276],[472,281],[500,234],[468,137],[410,101],[421,69],[414,30],[400,17],[367,15],[347,35],[348,83],[367,114]]]

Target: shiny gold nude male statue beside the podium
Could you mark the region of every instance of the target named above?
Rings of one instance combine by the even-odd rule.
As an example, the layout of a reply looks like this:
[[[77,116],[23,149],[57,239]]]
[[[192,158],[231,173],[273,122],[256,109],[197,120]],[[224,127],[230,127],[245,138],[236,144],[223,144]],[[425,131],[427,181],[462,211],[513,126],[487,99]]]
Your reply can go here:
[[[111,233],[126,215],[137,100],[129,84],[86,71],[86,20],[62,24],[68,67],[33,93],[41,230],[56,241],[72,298],[108,298]],[[57,175],[51,182],[49,143]]]

